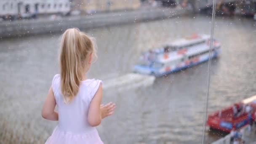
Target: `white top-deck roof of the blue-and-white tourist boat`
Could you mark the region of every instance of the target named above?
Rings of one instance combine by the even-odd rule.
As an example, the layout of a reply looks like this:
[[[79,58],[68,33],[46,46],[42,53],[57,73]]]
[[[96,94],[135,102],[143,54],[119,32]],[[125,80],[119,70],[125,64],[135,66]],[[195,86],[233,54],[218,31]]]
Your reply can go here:
[[[185,46],[185,45],[190,45],[192,43],[199,43],[201,41],[208,40],[209,38],[210,38],[210,35],[193,34],[189,37],[184,37],[184,38],[175,40],[171,43],[168,43],[168,45],[181,47],[181,46]]]

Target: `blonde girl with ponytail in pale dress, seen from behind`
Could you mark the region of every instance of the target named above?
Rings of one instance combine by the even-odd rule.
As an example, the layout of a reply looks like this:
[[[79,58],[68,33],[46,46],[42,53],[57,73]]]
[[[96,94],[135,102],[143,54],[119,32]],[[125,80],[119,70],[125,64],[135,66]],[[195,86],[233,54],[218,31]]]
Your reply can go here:
[[[101,105],[101,80],[86,77],[93,56],[95,45],[85,33],[77,28],[64,32],[60,75],[53,77],[42,109],[43,118],[59,123],[45,144],[103,144],[95,126],[114,113],[115,104]]]

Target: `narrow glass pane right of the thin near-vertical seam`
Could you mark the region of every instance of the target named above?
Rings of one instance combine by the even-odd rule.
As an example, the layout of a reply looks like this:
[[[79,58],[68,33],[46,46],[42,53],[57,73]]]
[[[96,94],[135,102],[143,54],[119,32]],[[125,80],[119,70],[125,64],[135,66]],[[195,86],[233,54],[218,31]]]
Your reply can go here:
[[[206,142],[256,141],[248,128],[255,112],[255,9],[253,0],[216,3],[214,37],[221,55],[211,63]]]

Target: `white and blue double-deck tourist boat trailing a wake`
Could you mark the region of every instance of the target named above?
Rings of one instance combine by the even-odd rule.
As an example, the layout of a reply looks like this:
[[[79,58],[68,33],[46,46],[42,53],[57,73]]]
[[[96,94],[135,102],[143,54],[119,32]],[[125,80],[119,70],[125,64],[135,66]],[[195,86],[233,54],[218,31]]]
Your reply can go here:
[[[133,72],[162,76],[209,60],[210,35],[192,34],[168,43],[165,47],[141,54]],[[221,52],[220,43],[213,39],[211,57]]]

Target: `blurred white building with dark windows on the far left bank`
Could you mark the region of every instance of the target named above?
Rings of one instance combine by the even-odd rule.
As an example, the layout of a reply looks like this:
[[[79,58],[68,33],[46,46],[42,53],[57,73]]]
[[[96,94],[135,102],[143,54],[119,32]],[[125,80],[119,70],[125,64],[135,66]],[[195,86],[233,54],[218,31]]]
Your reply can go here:
[[[68,13],[69,0],[0,0],[0,16]]]

